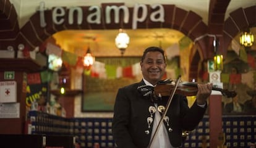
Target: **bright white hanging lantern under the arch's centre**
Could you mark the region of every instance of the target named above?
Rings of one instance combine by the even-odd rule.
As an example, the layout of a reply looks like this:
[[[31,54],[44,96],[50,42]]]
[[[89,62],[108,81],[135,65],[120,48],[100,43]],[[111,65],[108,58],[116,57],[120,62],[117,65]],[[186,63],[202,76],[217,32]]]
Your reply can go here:
[[[124,51],[126,51],[126,48],[130,43],[130,38],[127,33],[124,32],[124,30],[119,29],[119,33],[116,36],[115,43],[116,47],[121,51],[121,54],[124,55]]]

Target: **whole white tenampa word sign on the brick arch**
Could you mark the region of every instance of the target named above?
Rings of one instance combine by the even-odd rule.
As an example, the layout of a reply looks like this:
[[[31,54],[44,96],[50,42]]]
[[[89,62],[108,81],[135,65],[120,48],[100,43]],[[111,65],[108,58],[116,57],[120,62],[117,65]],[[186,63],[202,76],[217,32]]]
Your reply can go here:
[[[161,4],[151,5],[153,11],[150,14],[150,20],[152,22],[164,22],[164,7]],[[47,23],[45,20],[45,2],[40,2],[39,10],[40,12],[40,27],[46,27]],[[114,23],[119,23],[121,20],[124,23],[129,23],[130,14],[129,8],[126,6],[106,6],[105,9],[105,19],[101,19],[101,7],[100,6],[90,6],[88,7],[87,23],[91,24],[101,24],[101,20],[105,20],[106,24],[111,23],[111,12],[114,13]],[[123,12],[123,18],[120,18],[120,14]],[[139,13],[141,12],[141,13]],[[74,16],[77,13],[77,21],[74,22]],[[140,15],[139,15],[140,14]],[[56,25],[61,25],[65,22],[66,11],[64,7],[55,7],[52,12],[53,23]],[[68,23],[81,25],[83,22],[83,9],[82,7],[71,7],[68,14]],[[145,4],[135,4],[132,15],[132,29],[137,29],[139,22],[143,22],[147,19],[148,9]]]

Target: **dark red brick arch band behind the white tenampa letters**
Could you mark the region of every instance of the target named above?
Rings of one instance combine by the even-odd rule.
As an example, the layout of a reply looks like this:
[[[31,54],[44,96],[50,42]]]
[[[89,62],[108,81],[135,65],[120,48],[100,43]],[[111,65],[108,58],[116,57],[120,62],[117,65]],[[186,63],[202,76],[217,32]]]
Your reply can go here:
[[[115,4],[116,5],[116,4]],[[198,38],[198,36],[203,36],[207,33],[207,25],[203,23],[202,17],[195,14],[192,11],[186,11],[176,7],[174,5],[163,5],[165,8],[165,22],[164,23],[154,23],[149,19],[145,20],[145,22],[138,23],[137,28],[172,28],[174,30],[179,30],[184,35],[188,36],[192,41]],[[102,4],[102,7],[106,7],[105,4]],[[87,10],[88,7],[83,7],[83,10]],[[129,8],[130,10],[132,8]],[[68,9],[66,10],[66,13]],[[86,12],[84,12],[85,14]],[[104,12],[103,12],[104,13]],[[169,15],[171,14],[171,15]],[[34,48],[36,46],[40,46],[40,44],[45,41],[45,39],[49,38],[54,33],[62,30],[108,30],[108,29],[119,29],[122,28],[131,29],[131,23],[111,23],[106,25],[106,23],[101,24],[89,24],[83,21],[81,25],[69,25],[66,21],[62,25],[56,25],[51,20],[52,18],[52,10],[45,11],[45,18],[47,25],[45,28],[40,27],[40,14],[36,12],[30,17],[30,20],[25,23],[25,25],[21,28],[20,34],[22,35],[22,41],[28,44],[28,46]],[[86,18],[84,15],[83,18]],[[66,18],[67,20],[67,18]],[[102,20],[104,21],[104,20]],[[114,21],[113,21],[114,22]],[[131,21],[130,21],[131,22]],[[200,46],[200,53],[202,53],[202,58],[207,57],[207,50],[205,42],[202,40],[198,41]]]

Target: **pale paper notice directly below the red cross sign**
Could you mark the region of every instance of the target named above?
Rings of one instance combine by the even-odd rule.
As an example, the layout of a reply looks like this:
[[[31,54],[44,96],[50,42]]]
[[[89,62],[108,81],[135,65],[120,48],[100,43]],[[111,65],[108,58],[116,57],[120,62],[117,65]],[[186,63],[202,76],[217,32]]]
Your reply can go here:
[[[0,104],[0,118],[20,118],[20,103]]]

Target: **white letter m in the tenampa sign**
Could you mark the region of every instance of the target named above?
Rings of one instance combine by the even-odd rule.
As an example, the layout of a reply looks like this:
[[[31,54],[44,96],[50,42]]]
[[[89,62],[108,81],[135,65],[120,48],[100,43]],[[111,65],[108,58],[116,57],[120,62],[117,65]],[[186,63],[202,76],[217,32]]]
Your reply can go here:
[[[129,9],[126,6],[107,6],[106,7],[106,23],[111,23],[111,10],[114,10],[114,22],[119,23],[119,12],[122,9],[124,12],[124,23],[129,22]]]

